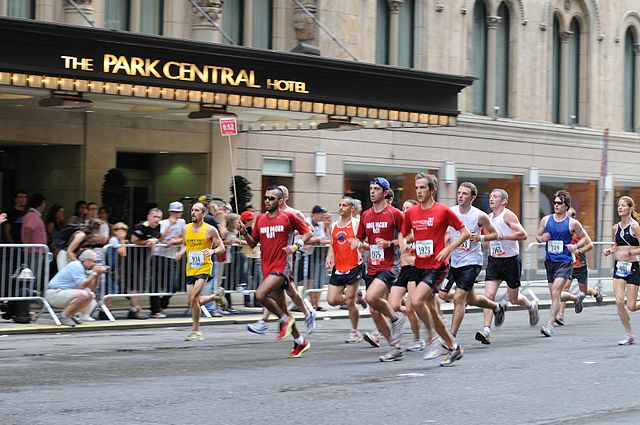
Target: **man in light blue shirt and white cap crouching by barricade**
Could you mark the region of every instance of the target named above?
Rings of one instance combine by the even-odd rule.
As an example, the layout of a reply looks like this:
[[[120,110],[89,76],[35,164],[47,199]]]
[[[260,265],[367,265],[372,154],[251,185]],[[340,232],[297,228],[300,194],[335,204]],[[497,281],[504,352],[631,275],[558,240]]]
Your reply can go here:
[[[57,308],[64,310],[60,314],[63,325],[75,326],[80,320],[76,313],[85,310],[94,300],[93,291],[100,282],[99,276],[107,272],[107,268],[97,264],[98,255],[88,249],[78,260],[71,261],[60,270],[47,284],[47,301]]]

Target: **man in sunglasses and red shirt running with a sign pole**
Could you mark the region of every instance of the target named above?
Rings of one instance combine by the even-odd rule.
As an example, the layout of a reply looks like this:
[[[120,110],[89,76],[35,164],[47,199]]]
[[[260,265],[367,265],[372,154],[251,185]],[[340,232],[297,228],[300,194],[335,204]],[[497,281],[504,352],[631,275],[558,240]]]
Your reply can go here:
[[[251,248],[260,243],[263,280],[258,285],[255,295],[263,306],[280,318],[280,333],[277,339],[282,340],[289,335],[293,336],[293,349],[289,353],[289,358],[296,358],[311,348],[311,344],[298,332],[296,321],[287,308],[284,294],[285,289],[292,285],[291,254],[304,246],[311,237],[311,231],[298,216],[280,209],[283,198],[284,194],[278,186],[268,187],[264,196],[266,212],[258,215],[253,233],[248,234],[243,223],[238,223],[238,226]],[[293,243],[296,230],[302,237],[298,242]]]

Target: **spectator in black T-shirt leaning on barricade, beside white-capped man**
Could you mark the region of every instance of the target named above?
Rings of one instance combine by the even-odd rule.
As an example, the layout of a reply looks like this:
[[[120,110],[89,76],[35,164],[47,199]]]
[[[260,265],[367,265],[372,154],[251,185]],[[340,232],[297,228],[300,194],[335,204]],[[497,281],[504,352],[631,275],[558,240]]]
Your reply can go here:
[[[162,211],[159,208],[151,208],[147,213],[147,221],[142,222],[133,228],[131,235],[131,243],[146,246],[148,249],[136,249],[135,264],[140,268],[137,276],[143,281],[142,291],[149,292],[151,290],[149,283],[151,280],[151,270],[148,267],[149,254],[155,248],[160,238],[160,220],[162,220]],[[167,317],[162,311],[151,312],[151,317]]]

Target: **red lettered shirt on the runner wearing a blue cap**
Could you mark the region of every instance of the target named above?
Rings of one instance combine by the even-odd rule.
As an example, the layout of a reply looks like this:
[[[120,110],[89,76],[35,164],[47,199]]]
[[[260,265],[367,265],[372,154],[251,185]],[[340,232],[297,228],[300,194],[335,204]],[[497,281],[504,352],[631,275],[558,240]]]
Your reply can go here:
[[[399,265],[400,255],[397,247],[379,249],[376,239],[382,238],[386,241],[394,240],[402,228],[402,212],[390,205],[380,212],[375,212],[369,208],[360,216],[358,225],[358,239],[366,237],[369,243],[369,265],[367,274],[374,275],[381,270],[394,270]]]

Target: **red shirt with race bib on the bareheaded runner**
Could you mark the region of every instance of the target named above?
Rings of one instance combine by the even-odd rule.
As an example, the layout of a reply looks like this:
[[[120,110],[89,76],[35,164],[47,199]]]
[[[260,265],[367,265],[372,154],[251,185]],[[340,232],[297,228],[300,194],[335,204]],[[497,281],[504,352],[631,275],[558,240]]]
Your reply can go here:
[[[448,259],[444,262],[436,260],[436,255],[445,247],[444,238],[449,226],[460,230],[464,224],[451,208],[438,202],[426,210],[420,204],[407,210],[402,234],[408,235],[413,230],[417,268],[439,269],[449,264]]]

